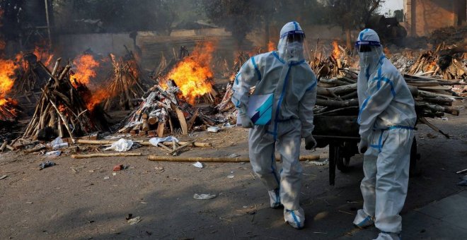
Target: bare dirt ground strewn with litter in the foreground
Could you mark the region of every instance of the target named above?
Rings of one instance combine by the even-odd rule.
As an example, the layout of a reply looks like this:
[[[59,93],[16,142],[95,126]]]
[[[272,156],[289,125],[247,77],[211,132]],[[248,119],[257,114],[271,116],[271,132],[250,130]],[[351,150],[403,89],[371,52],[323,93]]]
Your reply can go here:
[[[421,159],[402,215],[465,189],[456,185],[463,174],[455,172],[467,168],[467,101],[456,105],[461,116],[431,119],[452,138],[418,126]],[[182,138],[187,139],[213,147],[192,148],[183,156],[248,156],[243,128],[195,132]],[[336,239],[357,231],[352,220],[362,207],[361,155],[352,157],[350,172],[337,172],[335,186],[328,184],[327,164],[303,162],[306,227],[296,230],[284,224],[282,209],[269,208],[267,191],[249,163],[204,163],[199,169],[189,162],[146,160],[144,155],[165,155],[158,148],[132,151],[143,156],[76,160],[64,154],[42,171],[38,165],[45,157],[0,154],[0,176],[7,175],[0,180],[0,239]],[[323,161],[328,151],[302,146],[302,155]],[[116,164],[128,168],[113,175]],[[217,197],[196,200],[195,193]],[[129,214],[141,222],[130,225]]]

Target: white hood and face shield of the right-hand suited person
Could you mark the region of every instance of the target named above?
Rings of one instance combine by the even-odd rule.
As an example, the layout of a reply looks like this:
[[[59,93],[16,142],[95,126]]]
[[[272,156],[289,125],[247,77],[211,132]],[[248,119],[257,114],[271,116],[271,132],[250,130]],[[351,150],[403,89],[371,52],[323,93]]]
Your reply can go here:
[[[384,56],[378,34],[372,29],[364,29],[359,33],[355,49],[359,54],[360,74],[367,80],[379,67]]]

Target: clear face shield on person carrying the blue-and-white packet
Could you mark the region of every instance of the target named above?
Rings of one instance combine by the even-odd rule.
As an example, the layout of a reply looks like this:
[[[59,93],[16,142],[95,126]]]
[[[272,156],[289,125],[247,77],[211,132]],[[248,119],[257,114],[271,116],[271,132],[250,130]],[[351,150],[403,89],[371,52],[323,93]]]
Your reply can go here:
[[[281,36],[284,41],[285,56],[287,60],[301,61],[309,60],[308,44],[306,44],[305,33],[301,30],[294,30],[284,33]]]

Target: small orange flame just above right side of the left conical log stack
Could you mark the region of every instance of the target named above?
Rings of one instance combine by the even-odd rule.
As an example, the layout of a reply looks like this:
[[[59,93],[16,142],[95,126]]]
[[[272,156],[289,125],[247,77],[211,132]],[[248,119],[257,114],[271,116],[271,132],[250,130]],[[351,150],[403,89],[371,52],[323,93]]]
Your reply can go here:
[[[99,66],[99,63],[94,60],[92,55],[80,55],[74,59],[73,64],[76,66],[76,71],[70,74],[70,80],[74,87],[76,87],[76,85],[72,79],[76,79],[79,83],[87,85],[91,78],[96,77],[95,68]]]

